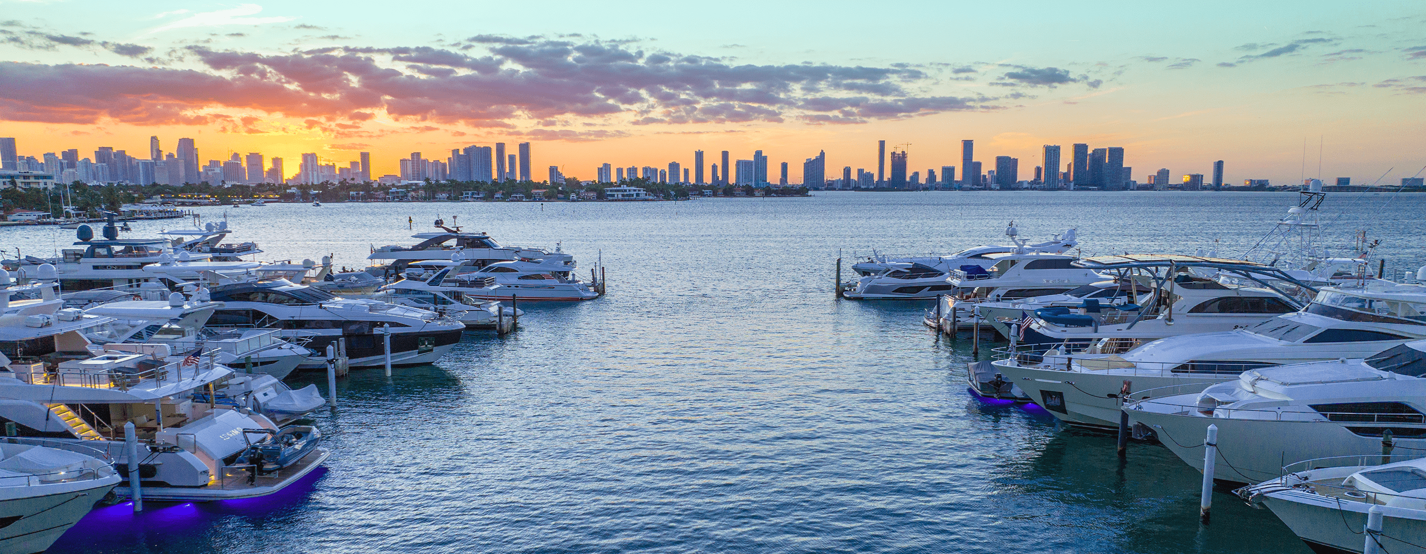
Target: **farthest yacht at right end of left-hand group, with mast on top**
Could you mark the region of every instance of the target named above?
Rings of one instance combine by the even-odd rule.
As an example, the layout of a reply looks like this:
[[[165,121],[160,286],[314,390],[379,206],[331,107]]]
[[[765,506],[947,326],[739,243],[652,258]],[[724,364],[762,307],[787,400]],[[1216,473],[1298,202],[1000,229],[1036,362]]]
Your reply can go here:
[[[568,268],[565,271],[575,269],[575,256],[562,252],[559,244],[555,245],[553,251],[532,246],[502,246],[483,232],[465,232],[459,226],[449,228],[445,226],[442,219],[436,219],[435,225],[441,229],[439,232],[419,232],[412,235],[412,238],[421,239],[421,242],[412,246],[388,245],[374,248],[371,255],[366,256],[374,265],[366,268],[366,271],[378,276],[401,275],[411,262],[429,259],[446,261],[458,252],[462,255],[462,259],[469,261],[476,268],[483,268],[495,262],[542,259],[549,263],[563,265]]]

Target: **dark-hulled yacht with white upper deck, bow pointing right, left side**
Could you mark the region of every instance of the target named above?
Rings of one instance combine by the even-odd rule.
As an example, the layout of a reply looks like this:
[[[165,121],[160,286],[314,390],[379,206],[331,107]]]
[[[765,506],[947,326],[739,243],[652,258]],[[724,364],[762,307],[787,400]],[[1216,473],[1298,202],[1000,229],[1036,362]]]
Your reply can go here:
[[[255,279],[224,273],[224,265],[154,263],[145,271],[165,275],[198,273],[211,300],[222,302],[207,328],[282,329],[305,339],[314,355],[299,369],[327,366],[327,346],[345,340],[349,367],[385,363],[384,329],[391,329],[391,360],[414,366],[435,363],[458,342],[465,325],[424,309],[371,299],[348,299],[288,279]]]

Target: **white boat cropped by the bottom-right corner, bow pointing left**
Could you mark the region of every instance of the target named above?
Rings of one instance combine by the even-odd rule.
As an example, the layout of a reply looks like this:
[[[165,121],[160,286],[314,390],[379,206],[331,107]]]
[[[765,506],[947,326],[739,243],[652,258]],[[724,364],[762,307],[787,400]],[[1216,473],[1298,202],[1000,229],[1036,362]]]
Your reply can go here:
[[[1382,551],[1419,553],[1426,544],[1426,459],[1417,454],[1303,460],[1236,493],[1268,506],[1315,553],[1360,553],[1373,508],[1382,513]]]

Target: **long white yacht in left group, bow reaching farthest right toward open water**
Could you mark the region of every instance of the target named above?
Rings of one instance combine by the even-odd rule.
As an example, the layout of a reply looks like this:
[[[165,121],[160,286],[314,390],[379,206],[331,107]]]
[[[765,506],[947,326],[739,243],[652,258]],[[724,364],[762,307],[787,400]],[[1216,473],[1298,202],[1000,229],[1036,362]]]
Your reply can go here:
[[[459,254],[452,258],[449,262],[422,262],[421,266],[439,269],[406,275],[428,285],[459,289],[466,300],[592,300],[602,296],[599,288],[579,281],[573,268],[558,261],[495,262],[475,269],[476,265],[461,259]]]

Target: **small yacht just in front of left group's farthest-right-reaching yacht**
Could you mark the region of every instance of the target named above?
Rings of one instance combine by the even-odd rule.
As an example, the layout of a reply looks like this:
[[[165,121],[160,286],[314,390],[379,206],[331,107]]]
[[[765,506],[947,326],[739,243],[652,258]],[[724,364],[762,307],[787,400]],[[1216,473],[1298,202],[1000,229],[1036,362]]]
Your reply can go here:
[[[386,295],[382,299],[402,306],[445,313],[465,323],[469,329],[495,329],[502,326],[505,319],[511,319],[513,323],[515,318],[525,315],[525,310],[519,308],[471,296],[471,293],[498,296],[493,289],[501,285],[495,283],[493,276],[446,279],[448,275],[449,272],[438,271],[426,281],[399,279],[382,288]],[[451,286],[443,285],[446,282]]]

